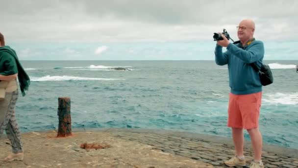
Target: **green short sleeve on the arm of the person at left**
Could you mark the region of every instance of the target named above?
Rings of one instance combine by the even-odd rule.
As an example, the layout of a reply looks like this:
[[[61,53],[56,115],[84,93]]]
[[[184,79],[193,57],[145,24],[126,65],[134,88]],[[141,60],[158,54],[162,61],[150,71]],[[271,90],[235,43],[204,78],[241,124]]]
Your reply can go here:
[[[11,56],[9,53],[2,53],[1,54],[1,61],[0,66],[2,71],[0,72],[0,75],[13,75],[18,73],[18,66],[17,62],[14,58],[14,56]]]

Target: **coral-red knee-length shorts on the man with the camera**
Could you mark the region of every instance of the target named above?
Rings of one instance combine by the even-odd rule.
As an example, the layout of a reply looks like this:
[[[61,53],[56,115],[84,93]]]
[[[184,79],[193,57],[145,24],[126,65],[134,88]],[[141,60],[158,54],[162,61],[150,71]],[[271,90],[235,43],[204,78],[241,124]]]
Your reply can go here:
[[[229,94],[227,126],[252,129],[259,127],[262,92],[236,95]]]

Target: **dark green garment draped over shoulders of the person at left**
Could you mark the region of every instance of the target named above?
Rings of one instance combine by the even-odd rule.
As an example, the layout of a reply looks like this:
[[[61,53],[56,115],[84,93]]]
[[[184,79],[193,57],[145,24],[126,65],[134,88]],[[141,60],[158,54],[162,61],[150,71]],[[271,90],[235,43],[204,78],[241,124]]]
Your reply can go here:
[[[3,52],[9,53],[11,56],[13,56],[15,58],[17,66],[18,66],[18,80],[19,80],[20,88],[22,91],[22,95],[25,96],[25,90],[28,90],[28,87],[30,84],[30,78],[26,74],[24,68],[22,67],[22,64],[19,61],[19,58],[18,58],[16,52],[12,48],[10,48],[9,46],[0,47],[0,55]],[[7,75],[12,75],[12,74],[7,74]]]

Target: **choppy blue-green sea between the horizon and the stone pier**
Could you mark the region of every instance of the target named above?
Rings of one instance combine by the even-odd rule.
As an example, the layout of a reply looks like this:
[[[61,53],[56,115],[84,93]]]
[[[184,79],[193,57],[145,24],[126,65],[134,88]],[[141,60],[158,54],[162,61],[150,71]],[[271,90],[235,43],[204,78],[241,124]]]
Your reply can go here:
[[[267,144],[298,149],[298,60],[265,61],[260,130]],[[31,78],[17,102],[22,132],[57,129],[58,97],[73,128],[146,128],[231,137],[228,74],[214,61],[22,61]],[[129,70],[115,70],[123,67]],[[247,132],[245,139],[249,140]]]

